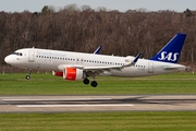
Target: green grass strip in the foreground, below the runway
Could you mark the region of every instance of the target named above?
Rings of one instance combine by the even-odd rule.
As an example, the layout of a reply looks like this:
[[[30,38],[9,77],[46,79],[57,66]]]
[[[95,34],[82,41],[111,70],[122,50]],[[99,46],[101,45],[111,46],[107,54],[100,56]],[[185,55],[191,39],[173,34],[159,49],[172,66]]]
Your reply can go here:
[[[195,111],[0,115],[0,131],[195,131]]]

